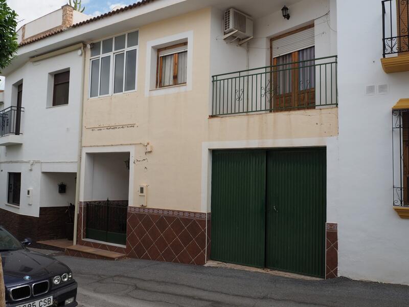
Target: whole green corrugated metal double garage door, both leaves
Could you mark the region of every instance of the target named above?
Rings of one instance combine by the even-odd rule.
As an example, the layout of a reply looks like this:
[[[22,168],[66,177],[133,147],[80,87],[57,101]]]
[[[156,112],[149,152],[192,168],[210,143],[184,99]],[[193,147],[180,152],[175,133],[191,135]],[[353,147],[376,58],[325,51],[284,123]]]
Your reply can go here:
[[[324,277],[326,150],[212,156],[211,258]]]

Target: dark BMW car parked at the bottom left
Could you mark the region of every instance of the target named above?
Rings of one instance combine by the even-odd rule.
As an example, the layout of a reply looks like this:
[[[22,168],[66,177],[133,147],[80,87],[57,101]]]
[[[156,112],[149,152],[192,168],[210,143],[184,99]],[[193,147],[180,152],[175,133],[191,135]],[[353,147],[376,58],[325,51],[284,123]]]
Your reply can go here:
[[[69,267],[27,248],[0,226],[0,255],[6,286],[6,307],[74,307],[77,282]]]

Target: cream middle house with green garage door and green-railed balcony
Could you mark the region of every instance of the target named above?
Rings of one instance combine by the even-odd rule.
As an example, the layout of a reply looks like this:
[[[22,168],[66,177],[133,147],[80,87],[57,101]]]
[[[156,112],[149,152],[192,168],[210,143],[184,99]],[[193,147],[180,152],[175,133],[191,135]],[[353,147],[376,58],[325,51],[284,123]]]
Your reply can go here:
[[[87,43],[67,253],[337,276],[336,2],[287,6],[146,1],[63,33]]]

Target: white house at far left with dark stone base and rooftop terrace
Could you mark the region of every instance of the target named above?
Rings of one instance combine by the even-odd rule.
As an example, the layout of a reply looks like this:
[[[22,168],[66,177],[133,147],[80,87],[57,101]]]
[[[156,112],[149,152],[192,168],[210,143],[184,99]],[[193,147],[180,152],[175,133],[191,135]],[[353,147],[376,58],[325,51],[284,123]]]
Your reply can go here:
[[[75,203],[83,45],[35,41],[87,18],[65,5],[22,26],[17,55],[2,71],[0,224],[19,239],[67,237],[66,210]]]

